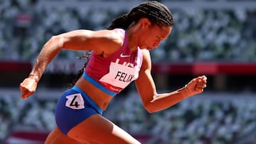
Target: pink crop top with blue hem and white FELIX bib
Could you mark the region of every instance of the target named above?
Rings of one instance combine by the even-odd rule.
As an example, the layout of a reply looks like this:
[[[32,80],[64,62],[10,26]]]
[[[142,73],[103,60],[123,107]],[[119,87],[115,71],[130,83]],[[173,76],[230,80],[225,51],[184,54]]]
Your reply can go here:
[[[142,50],[138,48],[137,52],[132,53],[128,48],[126,31],[118,30],[124,34],[122,47],[110,57],[101,57],[92,52],[84,72],[98,83],[96,85],[101,85],[115,93],[121,92],[129,83],[137,79],[142,67]]]

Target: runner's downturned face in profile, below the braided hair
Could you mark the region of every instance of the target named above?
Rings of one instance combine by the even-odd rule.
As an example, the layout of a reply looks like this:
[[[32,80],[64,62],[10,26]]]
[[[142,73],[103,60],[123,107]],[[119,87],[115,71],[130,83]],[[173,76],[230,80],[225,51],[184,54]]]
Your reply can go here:
[[[150,21],[142,22],[142,35],[139,38],[139,47],[147,50],[157,48],[162,40],[166,40],[171,33],[171,26],[160,28]]]

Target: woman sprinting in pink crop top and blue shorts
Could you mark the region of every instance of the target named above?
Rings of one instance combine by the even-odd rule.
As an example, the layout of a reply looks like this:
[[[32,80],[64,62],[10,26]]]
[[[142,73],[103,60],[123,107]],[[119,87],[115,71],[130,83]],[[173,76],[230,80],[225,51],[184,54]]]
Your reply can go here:
[[[174,92],[156,92],[149,50],[166,40],[172,28],[171,11],[157,1],[147,1],[112,21],[107,30],[70,31],[50,38],[28,78],[20,84],[23,99],[36,91],[46,66],[61,49],[92,50],[92,53],[74,86],[60,96],[55,110],[57,127],[48,135],[46,144],[139,143],[102,117],[114,95],[134,80],[149,113],[203,92],[205,76],[192,79]]]

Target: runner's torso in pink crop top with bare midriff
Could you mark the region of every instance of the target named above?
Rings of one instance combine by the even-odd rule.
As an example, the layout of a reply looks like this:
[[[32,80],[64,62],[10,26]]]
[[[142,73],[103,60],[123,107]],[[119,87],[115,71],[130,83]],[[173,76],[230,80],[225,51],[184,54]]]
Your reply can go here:
[[[139,77],[142,67],[142,50],[138,48],[137,52],[132,52],[128,48],[127,33],[120,31],[124,33],[122,47],[110,57],[92,52],[83,76],[75,84],[102,110],[107,108],[115,94]]]

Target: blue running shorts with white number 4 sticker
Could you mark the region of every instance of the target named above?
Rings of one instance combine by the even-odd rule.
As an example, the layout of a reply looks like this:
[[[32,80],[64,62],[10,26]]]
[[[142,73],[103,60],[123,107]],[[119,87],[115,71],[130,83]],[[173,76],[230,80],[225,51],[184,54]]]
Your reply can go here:
[[[85,92],[75,86],[65,91],[58,99],[55,121],[60,131],[67,135],[68,131],[78,123],[95,113],[102,115],[102,112],[102,109]]]

